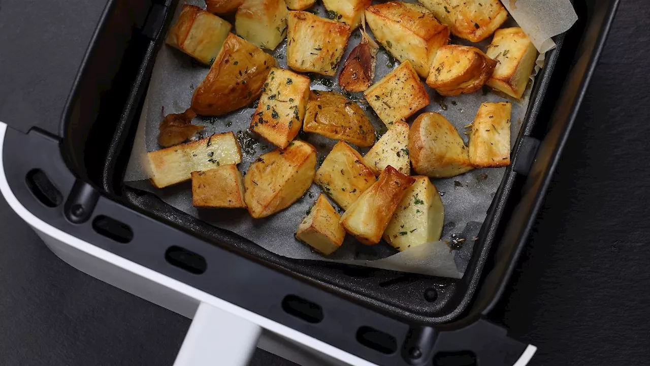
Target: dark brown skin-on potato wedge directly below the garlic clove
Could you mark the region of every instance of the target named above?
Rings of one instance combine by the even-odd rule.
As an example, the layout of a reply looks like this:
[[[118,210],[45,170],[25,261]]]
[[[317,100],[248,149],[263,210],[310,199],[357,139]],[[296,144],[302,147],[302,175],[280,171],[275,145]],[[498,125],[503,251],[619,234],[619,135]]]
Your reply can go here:
[[[374,128],[363,109],[333,91],[311,91],[302,130],[358,147],[374,143]]]

